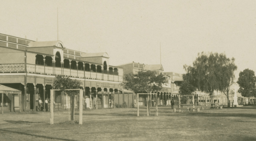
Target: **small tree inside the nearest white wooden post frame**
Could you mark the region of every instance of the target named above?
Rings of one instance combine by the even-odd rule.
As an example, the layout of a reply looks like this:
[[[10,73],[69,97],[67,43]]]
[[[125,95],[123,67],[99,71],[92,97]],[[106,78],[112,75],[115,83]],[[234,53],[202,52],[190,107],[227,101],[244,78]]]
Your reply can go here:
[[[64,92],[65,95],[70,97],[70,106],[71,106],[71,120],[74,121],[75,117],[75,96],[79,94],[77,90],[68,90],[67,89],[79,89],[82,83],[76,79],[70,79],[70,77],[65,77],[63,75],[57,75],[56,79],[53,82],[53,88],[59,89],[61,92]],[[69,109],[70,110],[70,109]]]

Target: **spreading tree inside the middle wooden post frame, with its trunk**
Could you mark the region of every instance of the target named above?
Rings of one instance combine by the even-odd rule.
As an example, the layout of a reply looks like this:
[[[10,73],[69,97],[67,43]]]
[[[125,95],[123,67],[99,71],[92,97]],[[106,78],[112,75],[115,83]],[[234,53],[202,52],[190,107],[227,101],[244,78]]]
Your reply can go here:
[[[165,82],[165,77],[163,75],[156,75],[153,71],[139,71],[138,74],[125,74],[125,87],[131,89],[134,93],[150,93],[152,91],[160,91],[162,89],[162,84]],[[149,97],[148,97],[149,102]],[[147,102],[147,113],[149,112],[149,104]],[[139,100],[138,100],[139,105]],[[157,104],[156,104],[156,113]]]

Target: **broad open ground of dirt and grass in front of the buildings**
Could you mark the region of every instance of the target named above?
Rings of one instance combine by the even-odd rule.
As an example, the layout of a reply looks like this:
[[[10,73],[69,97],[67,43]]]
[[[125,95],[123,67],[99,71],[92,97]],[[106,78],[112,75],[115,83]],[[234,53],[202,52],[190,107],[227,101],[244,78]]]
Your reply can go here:
[[[177,108],[177,107],[176,107]],[[68,110],[54,112],[8,112],[0,114],[0,140],[64,140],[64,141],[255,141],[256,106],[183,109],[174,113],[167,107],[155,108],[147,116],[146,108],[107,108],[83,110],[83,125],[59,124],[68,120]],[[76,111],[75,120],[79,121]]]

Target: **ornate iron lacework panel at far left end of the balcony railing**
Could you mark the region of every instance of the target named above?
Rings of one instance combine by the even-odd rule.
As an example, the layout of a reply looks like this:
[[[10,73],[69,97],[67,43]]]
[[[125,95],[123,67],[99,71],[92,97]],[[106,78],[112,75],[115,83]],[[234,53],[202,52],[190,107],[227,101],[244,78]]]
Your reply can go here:
[[[1,64],[0,72],[18,72],[25,71],[24,64]]]

